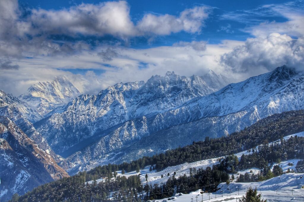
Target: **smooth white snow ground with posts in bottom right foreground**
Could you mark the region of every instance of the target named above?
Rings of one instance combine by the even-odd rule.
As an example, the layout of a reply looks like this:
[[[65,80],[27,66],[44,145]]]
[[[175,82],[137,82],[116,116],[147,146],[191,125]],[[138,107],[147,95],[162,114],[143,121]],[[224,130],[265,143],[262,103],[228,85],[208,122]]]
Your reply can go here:
[[[183,194],[181,196],[179,196],[179,194],[175,194],[174,198],[169,197],[170,200],[168,200],[169,198],[164,198],[161,200],[155,200],[155,202],[163,202],[163,201],[201,202],[202,199],[203,201],[210,201],[210,202],[211,201],[236,202],[246,193],[247,188],[249,188],[250,186],[252,188],[257,187],[258,192],[262,194],[262,198],[267,199],[268,202],[283,202],[283,201],[303,202],[304,189],[298,188],[299,184],[304,184],[304,178],[300,178],[303,175],[304,175],[303,173],[298,173],[298,174],[286,173],[281,176],[274,177],[269,180],[264,180],[261,182],[252,182],[252,183],[231,182],[229,185],[227,185],[226,183],[221,183],[218,186],[218,188],[221,189],[218,190],[217,193],[210,193],[210,195],[208,193],[201,194],[200,193],[201,190],[197,190],[195,192],[190,192],[189,194]],[[220,192],[221,190],[224,190],[223,195]]]

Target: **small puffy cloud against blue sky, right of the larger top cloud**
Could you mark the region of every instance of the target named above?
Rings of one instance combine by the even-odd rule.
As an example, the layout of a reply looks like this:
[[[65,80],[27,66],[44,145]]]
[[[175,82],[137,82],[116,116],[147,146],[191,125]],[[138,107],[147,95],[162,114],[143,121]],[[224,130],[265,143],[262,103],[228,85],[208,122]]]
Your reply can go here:
[[[169,35],[179,31],[189,33],[200,32],[204,26],[204,20],[208,18],[211,8],[207,6],[196,6],[185,9],[179,16],[146,14],[137,23],[140,32],[155,35]]]

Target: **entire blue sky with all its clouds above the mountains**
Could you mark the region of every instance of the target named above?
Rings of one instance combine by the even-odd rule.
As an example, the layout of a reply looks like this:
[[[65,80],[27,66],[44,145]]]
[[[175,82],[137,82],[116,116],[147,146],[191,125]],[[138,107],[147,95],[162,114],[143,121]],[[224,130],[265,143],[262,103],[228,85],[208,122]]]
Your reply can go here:
[[[174,71],[241,81],[303,68],[304,2],[0,2],[0,85],[19,95],[66,75],[83,93]]]

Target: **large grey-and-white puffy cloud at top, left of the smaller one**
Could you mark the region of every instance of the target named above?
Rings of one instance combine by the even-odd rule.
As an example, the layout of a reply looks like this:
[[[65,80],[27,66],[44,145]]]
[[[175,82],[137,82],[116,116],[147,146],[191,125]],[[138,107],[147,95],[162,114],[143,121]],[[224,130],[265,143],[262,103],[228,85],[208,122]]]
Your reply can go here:
[[[30,21],[38,30],[49,34],[67,35],[136,35],[125,1],[72,6],[62,10],[33,9]]]

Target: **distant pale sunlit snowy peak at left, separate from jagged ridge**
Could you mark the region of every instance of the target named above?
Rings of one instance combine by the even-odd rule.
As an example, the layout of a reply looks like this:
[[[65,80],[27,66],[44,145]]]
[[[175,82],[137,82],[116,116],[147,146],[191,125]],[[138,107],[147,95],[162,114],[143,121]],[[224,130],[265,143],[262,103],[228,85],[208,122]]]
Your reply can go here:
[[[65,76],[60,76],[53,81],[38,82],[32,85],[18,98],[27,102],[41,116],[44,116],[79,94],[79,90]]]

